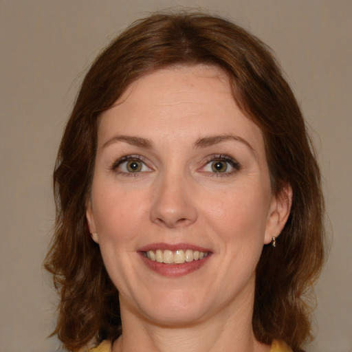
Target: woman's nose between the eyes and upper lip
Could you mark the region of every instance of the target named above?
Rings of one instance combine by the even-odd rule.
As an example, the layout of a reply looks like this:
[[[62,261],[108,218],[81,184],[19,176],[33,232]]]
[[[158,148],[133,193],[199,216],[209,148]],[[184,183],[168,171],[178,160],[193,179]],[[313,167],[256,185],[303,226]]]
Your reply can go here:
[[[181,228],[197,220],[197,197],[190,180],[184,176],[166,177],[153,189],[151,221],[166,228]]]

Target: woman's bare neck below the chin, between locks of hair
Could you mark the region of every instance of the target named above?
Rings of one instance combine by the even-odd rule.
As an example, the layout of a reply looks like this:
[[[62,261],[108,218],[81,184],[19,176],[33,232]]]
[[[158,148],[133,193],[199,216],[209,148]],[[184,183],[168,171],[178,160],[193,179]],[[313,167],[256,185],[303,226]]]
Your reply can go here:
[[[253,297],[246,297],[219,310],[216,316],[189,325],[165,326],[139,316],[120,298],[122,336],[113,344],[113,352],[267,352],[252,330]]]

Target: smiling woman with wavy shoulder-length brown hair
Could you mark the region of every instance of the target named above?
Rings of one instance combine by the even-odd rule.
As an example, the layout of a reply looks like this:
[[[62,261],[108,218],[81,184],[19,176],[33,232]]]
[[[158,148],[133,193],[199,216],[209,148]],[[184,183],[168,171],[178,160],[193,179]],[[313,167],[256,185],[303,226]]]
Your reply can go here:
[[[89,70],[58,151],[71,351],[300,351],[323,262],[305,122],[270,50],[204,14],[137,21]]]

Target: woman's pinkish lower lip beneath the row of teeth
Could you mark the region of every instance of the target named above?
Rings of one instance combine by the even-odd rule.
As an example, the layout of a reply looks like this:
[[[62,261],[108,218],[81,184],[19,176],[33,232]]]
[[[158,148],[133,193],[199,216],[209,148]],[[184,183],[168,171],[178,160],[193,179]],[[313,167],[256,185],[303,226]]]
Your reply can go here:
[[[182,264],[165,264],[159,263],[157,261],[151,261],[146,258],[143,253],[140,253],[142,261],[148,267],[148,269],[153,270],[153,272],[157,272],[162,276],[184,276],[199,270],[204,264],[208,262],[210,259],[211,253],[208,254],[203,259],[199,259],[199,261],[186,261]]]

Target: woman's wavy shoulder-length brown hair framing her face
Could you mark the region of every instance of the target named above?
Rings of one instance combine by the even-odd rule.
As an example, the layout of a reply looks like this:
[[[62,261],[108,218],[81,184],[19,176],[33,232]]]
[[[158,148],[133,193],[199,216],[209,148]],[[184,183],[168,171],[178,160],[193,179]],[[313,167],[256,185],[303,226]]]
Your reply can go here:
[[[264,246],[256,269],[256,339],[284,340],[296,352],[310,336],[303,298],[323,263],[324,202],[302,113],[265,44],[225,19],[182,12],[153,14],[120,34],[91,66],[67,122],[54,171],[56,230],[45,267],[61,292],[54,333],[69,350],[121,333],[118,291],[85,218],[98,115],[143,74],[197,64],[228,74],[237,104],[263,132],[272,191],[278,195],[287,184],[293,190],[276,248]]]

